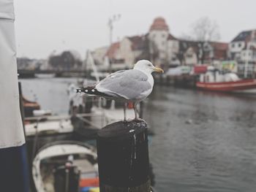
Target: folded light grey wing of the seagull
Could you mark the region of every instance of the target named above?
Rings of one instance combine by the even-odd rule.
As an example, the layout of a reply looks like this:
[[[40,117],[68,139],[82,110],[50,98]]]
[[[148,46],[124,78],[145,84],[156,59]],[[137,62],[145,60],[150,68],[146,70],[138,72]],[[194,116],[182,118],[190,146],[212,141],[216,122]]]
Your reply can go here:
[[[146,74],[136,69],[130,69],[110,74],[99,82],[96,88],[97,91],[102,91],[110,96],[121,96],[132,100],[151,89],[151,85]]]

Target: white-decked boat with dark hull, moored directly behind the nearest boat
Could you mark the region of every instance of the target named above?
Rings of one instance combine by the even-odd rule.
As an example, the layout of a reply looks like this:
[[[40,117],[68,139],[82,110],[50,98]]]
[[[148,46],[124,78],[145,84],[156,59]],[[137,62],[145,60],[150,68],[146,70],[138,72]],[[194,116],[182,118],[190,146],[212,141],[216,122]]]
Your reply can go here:
[[[97,137],[98,127],[85,124],[83,120],[88,116],[52,115],[25,118],[24,129],[26,135],[29,161],[34,158],[39,148],[49,142],[75,140],[85,142]]]

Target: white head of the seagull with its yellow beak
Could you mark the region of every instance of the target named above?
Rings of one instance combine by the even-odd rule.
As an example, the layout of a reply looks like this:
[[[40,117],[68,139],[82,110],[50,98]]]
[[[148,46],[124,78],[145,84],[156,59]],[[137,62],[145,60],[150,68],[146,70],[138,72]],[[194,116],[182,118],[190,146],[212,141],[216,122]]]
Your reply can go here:
[[[137,70],[140,70],[140,71],[146,72],[146,73],[152,73],[152,72],[163,73],[164,72],[161,68],[154,66],[148,60],[140,60],[140,61],[138,61],[135,64],[135,66],[133,67],[133,69],[137,69]]]

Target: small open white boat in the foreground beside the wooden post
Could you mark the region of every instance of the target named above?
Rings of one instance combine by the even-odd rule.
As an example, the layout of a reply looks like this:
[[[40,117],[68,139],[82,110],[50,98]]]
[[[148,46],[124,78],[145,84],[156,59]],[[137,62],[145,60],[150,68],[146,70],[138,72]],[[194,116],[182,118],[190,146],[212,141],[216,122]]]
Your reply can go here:
[[[34,158],[32,177],[37,192],[99,191],[97,153],[82,142],[52,142]]]

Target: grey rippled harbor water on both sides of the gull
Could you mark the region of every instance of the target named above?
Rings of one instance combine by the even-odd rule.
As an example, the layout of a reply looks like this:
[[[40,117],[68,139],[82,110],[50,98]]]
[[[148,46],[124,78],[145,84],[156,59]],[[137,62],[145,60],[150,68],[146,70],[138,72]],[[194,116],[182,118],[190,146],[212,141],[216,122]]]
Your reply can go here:
[[[26,99],[67,114],[75,78],[20,80]],[[255,191],[256,96],[155,86],[144,118],[159,192]]]

